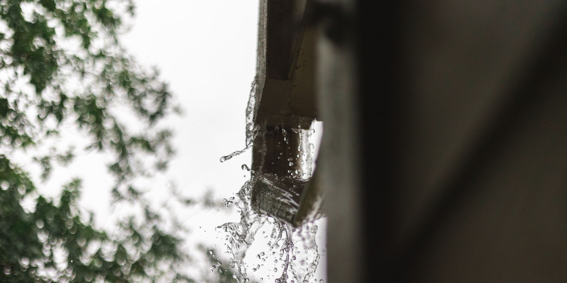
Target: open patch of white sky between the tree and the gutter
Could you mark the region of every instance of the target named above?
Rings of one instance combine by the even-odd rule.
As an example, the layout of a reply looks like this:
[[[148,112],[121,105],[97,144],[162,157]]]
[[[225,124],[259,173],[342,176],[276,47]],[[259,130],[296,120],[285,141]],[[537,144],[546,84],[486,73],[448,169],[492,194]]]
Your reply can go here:
[[[233,192],[249,154],[244,109],[256,73],[256,1],[137,1],[133,29],[122,40],[139,62],[155,65],[185,110],[175,129],[180,187]],[[238,170],[237,170],[238,169]]]

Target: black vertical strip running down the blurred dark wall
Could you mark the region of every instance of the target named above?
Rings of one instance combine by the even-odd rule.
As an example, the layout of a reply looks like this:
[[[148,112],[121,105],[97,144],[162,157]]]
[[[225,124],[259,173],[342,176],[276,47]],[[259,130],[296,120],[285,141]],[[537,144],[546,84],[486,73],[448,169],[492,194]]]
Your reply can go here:
[[[361,168],[365,282],[396,282],[391,265],[395,208],[395,115],[399,62],[397,1],[356,0],[353,15],[361,113]]]

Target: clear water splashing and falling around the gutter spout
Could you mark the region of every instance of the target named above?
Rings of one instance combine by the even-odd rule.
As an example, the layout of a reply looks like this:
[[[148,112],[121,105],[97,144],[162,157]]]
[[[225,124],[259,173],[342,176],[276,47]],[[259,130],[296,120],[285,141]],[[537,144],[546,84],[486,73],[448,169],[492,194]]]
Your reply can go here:
[[[238,150],[222,157],[221,162],[225,162],[226,160],[243,153],[252,147],[253,140],[261,134],[263,129],[254,124],[255,105],[256,82],[253,82],[246,109],[246,147],[243,150]],[[295,176],[296,178],[308,178],[311,176],[312,163],[312,145],[308,143],[308,137],[312,133],[312,130],[293,130],[301,136],[302,143],[299,145],[300,148],[298,148],[298,151],[301,151],[303,155],[301,157],[299,155],[297,156],[297,162],[301,162],[302,171],[304,172],[304,174],[301,175],[298,174],[299,172],[295,172]],[[285,135],[285,132],[283,133]],[[243,170],[250,170],[250,168],[245,165],[242,166],[242,168]],[[242,188],[240,188],[240,191],[236,193],[238,200],[234,201],[234,204],[239,209],[240,221],[225,223],[217,227],[217,229],[227,233],[226,246],[232,254],[232,259],[229,265],[231,268],[236,269],[236,280],[238,280],[239,283],[246,283],[249,281],[246,266],[244,264],[244,256],[246,256],[246,252],[252,246],[257,232],[264,225],[272,225],[273,233],[269,238],[269,250],[260,252],[260,254],[257,255],[257,259],[262,260],[262,262],[266,262],[265,259],[268,257],[266,254],[275,255],[276,251],[278,251],[278,256],[280,256],[280,260],[282,260],[282,262],[278,264],[278,260],[276,259],[274,261],[274,264],[276,265],[274,265],[273,271],[277,272],[278,267],[281,266],[281,276],[276,278],[274,282],[287,282],[290,277],[288,271],[291,271],[293,278],[295,278],[295,280],[292,280],[291,282],[300,283],[310,280],[315,273],[320,257],[317,244],[315,243],[317,226],[314,223],[306,223],[294,230],[291,226],[280,222],[277,219],[263,214],[257,214],[251,206],[251,190],[252,185],[255,184],[255,178],[259,177],[252,174],[251,180],[246,181]],[[233,202],[232,199],[233,198],[231,198],[231,201],[226,200],[225,204],[228,206],[229,203]],[[269,219],[273,219],[273,223],[270,222]],[[268,238],[268,236],[265,236],[264,238]],[[266,257],[263,257],[264,255],[266,255]],[[259,271],[263,265],[264,264],[253,265],[254,268],[252,268],[252,272]],[[261,278],[261,280],[263,280],[263,278]]]

